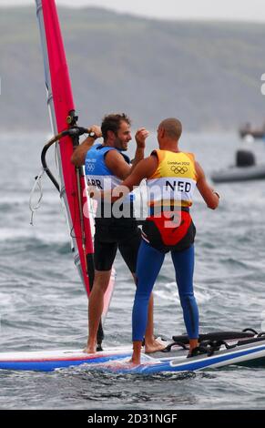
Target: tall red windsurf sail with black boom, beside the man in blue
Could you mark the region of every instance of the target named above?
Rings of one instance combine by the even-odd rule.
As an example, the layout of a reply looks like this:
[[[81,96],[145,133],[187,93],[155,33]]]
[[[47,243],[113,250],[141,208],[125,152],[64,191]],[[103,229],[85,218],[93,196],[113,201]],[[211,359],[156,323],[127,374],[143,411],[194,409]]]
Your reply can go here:
[[[66,212],[74,261],[89,296],[94,280],[94,225],[89,209],[91,201],[87,196],[84,168],[76,168],[70,161],[75,146],[79,144],[80,135],[86,133],[87,129],[77,126],[78,117],[55,0],[36,0],[36,15],[44,59],[47,107],[53,134],[56,136],[43,150],[42,163],[59,191]],[[46,166],[46,150],[53,143],[56,143],[59,183]],[[105,296],[104,315],[107,314],[112,296],[114,278],[113,274]],[[100,335],[102,340],[102,331]]]

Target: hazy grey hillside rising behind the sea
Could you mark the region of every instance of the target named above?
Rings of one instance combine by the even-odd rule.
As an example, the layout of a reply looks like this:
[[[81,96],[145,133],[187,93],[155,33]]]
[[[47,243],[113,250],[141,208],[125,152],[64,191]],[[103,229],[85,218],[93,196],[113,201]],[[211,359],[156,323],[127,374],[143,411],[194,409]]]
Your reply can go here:
[[[260,125],[265,27],[158,21],[59,8],[80,125],[126,111],[134,126],[180,117],[189,130]],[[0,130],[49,129],[34,7],[0,9]]]

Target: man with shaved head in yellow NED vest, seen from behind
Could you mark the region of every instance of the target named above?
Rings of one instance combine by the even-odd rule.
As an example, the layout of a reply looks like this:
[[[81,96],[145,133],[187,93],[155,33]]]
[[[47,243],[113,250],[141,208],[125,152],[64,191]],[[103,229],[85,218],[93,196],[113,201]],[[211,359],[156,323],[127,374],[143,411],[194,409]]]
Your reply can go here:
[[[195,187],[209,209],[219,205],[219,194],[209,187],[203,169],[194,155],[178,148],[182,125],[167,118],[158,126],[159,149],[141,160],[131,174],[115,189],[123,198],[147,178],[148,219],[142,230],[138,251],[137,282],[132,316],[133,355],[140,363],[141,343],[147,325],[148,300],[170,251],[176,272],[178,294],[189,335],[189,356],[198,346],[199,311],[193,293],[194,239],[196,229],[189,214]],[[125,190],[126,189],[126,190]],[[119,197],[113,197],[115,202]]]

